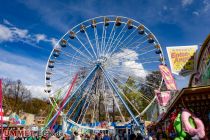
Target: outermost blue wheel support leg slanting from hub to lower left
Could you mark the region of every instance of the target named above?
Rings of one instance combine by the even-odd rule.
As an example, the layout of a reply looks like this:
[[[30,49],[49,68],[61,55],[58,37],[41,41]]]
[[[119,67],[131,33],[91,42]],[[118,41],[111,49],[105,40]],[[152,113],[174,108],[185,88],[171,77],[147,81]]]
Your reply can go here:
[[[72,97],[77,93],[77,91],[79,91],[79,89],[81,88],[81,86],[83,84],[85,84],[88,79],[96,72],[96,70],[99,68],[98,65],[96,65],[93,70],[88,74],[88,76],[80,83],[80,85],[77,87],[77,89],[69,96],[69,98],[63,103],[63,108],[66,107],[66,105],[68,104],[68,102],[72,99]],[[54,116],[51,118],[51,120],[47,123],[46,127],[49,127],[51,125],[51,123],[53,122],[53,120],[57,117],[58,112],[56,112],[54,114]]]

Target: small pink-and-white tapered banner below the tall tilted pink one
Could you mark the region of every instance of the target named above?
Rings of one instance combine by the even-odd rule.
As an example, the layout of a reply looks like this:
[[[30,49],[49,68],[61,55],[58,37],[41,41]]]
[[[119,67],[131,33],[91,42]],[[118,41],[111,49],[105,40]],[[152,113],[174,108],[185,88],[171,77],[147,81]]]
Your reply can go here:
[[[160,92],[159,90],[155,90],[155,94],[157,96],[157,102],[161,106],[167,106],[169,100],[171,99],[171,94],[170,91],[162,91]]]

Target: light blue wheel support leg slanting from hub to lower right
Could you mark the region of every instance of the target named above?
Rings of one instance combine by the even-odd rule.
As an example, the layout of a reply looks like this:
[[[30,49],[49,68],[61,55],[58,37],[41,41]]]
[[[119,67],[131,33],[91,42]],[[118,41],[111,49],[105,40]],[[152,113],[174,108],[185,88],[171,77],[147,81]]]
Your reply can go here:
[[[115,83],[110,79],[110,77],[107,75],[106,71],[104,71],[104,69],[101,67],[107,81],[109,82],[109,84],[111,85],[111,87],[113,88],[114,92],[117,94],[117,96],[120,98],[120,101],[123,103],[124,107],[127,109],[128,113],[130,114],[130,116],[132,117],[134,123],[137,125],[137,127],[140,128],[141,131],[141,135],[144,136],[144,132],[142,130],[142,125],[139,123],[139,121],[137,120],[137,118],[134,116],[133,112],[130,110],[130,108],[128,107],[128,105],[126,104],[126,102],[124,101],[124,99],[122,98],[122,96],[120,95],[120,92],[117,89],[117,86],[115,85]]]

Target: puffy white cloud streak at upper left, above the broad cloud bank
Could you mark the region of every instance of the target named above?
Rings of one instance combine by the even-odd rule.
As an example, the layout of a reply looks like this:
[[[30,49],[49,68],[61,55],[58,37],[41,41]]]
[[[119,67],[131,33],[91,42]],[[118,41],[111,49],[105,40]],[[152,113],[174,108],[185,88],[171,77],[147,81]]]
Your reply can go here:
[[[48,42],[54,46],[57,39],[48,38],[45,34],[32,34],[27,29],[15,27],[8,20],[3,20],[4,24],[0,24],[0,42],[24,42],[32,46],[37,46],[40,41]]]

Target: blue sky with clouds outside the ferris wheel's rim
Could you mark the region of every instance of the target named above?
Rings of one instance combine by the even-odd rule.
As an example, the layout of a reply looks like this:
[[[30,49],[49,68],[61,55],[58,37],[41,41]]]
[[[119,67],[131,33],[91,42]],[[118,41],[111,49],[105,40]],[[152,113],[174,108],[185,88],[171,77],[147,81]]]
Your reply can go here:
[[[0,13],[0,77],[21,79],[34,93],[44,85],[53,44],[88,18],[133,18],[156,35],[164,50],[203,43],[210,26],[209,0],[1,0]],[[178,79],[178,85],[186,83]]]

